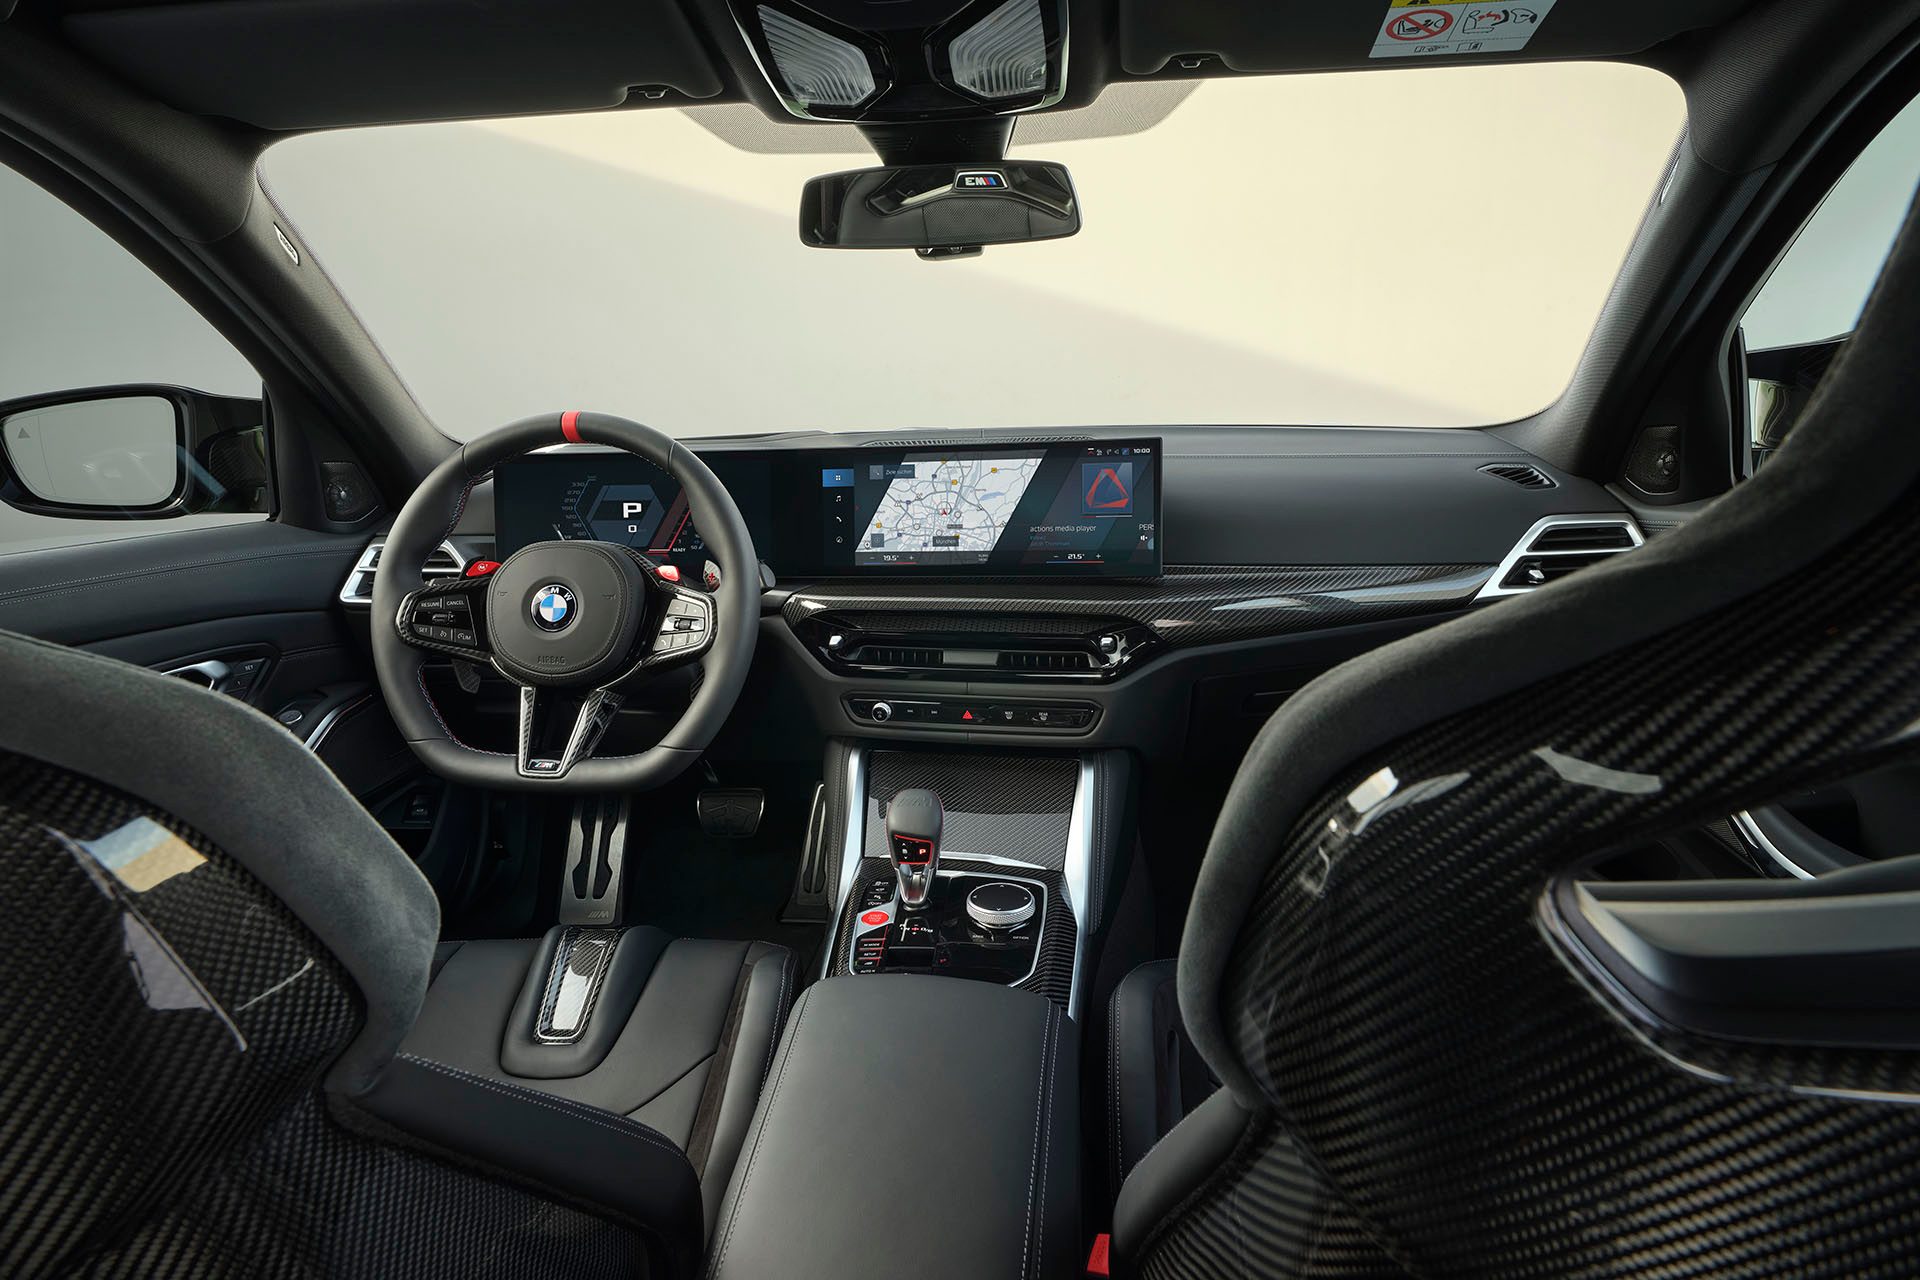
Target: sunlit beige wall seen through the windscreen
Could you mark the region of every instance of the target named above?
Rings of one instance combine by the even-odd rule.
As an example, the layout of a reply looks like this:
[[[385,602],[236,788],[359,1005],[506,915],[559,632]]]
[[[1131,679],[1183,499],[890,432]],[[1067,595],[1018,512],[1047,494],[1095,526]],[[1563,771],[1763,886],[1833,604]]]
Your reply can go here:
[[[1031,152],[1071,167],[1077,238],[956,263],[803,248],[801,184],[872,155],[676,111],[315,134],[263,173],[459,436],[561,407],[682,436],[1453,426],[1557,399],[1682,121],[1626,65],[1215,81]]]

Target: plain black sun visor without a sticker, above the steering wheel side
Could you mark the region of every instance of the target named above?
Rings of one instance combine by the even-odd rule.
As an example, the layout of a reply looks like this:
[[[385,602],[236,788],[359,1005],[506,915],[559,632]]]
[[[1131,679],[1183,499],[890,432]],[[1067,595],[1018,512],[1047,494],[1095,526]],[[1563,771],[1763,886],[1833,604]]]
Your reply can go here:
[[[630,92],[684,106],[722,88],[680,6],[639,0],[198,0],[63,29],[156,98],[261,129],[580,111]]]

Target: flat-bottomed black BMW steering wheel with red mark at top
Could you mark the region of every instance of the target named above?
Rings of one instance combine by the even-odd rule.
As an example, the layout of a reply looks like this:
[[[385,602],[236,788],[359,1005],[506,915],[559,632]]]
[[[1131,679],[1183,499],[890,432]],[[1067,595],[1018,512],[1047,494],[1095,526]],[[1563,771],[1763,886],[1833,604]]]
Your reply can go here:
[[[499,462],[563,441],[647,459],[685,489],[720,566],[712,591],[620,543],[547,541],[492,574],[420,581],[467,497]],[[372,660],[388,710],[442,777],[520,791],[634,791],[676,777],[720,731],[753,662],[760,562],[726,486],[668,436],[599,413],[524,418],[468,441],[420,484],[394,520],[372,585]],[[515,754],[470,747],[426,691],[430,656],[488,664],[520,687]],[[662,670],[705,662],[672,729],[636,756],[593,758],[626,693]]]

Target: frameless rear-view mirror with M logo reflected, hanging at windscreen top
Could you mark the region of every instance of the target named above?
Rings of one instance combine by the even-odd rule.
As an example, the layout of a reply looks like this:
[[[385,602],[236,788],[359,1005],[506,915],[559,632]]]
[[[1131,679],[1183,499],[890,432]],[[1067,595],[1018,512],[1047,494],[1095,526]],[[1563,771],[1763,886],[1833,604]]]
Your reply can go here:
[[[958,257],[1077,230],[1073,178],[1043,161],[854,169],[822,175],[801,194],[801,240],[818,249]]]

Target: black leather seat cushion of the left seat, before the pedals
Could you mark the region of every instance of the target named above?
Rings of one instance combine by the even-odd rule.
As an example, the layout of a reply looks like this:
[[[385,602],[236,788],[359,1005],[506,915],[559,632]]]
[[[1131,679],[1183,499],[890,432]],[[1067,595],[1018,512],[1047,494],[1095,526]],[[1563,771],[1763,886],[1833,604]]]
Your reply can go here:
[[[553,938],[442,948],[401,1061],[438,1063],[643,1125],[691,1161],[710,1232],[793,1002],[795,956],[766,942],[626,929],[588,1034],[574,1046],[547,1046],[534,1040],[534,1017]]]

